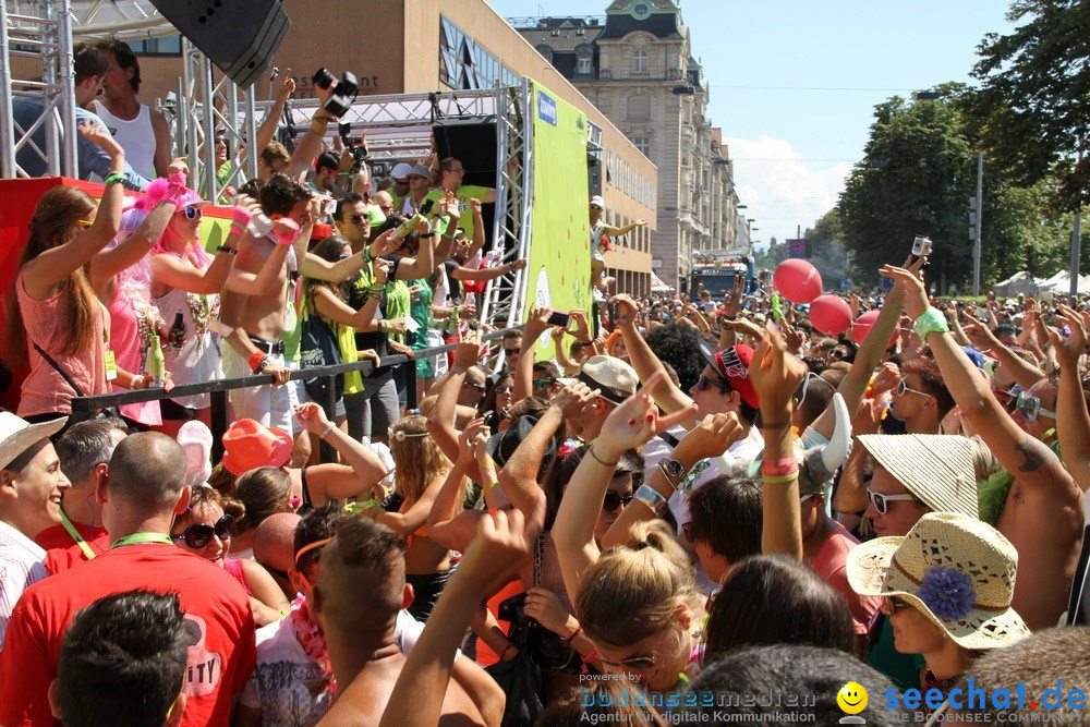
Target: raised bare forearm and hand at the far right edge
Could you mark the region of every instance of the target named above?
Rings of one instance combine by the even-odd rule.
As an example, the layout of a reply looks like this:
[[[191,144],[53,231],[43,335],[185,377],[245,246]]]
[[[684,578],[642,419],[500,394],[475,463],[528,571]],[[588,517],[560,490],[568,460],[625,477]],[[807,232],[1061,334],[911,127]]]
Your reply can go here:
[[[1059,436],[1061,458],[1075,484],[1085,493],[1090,489],[1090,412],[1082,393],[1079,360],[1087,348],[1087,330],[1082,316],[1066,305],[1059,306],[1059,319],[1067,325],[1070,334],[1065,339],[1058,331],[1049,331],[1059,360],[1056,434]]]

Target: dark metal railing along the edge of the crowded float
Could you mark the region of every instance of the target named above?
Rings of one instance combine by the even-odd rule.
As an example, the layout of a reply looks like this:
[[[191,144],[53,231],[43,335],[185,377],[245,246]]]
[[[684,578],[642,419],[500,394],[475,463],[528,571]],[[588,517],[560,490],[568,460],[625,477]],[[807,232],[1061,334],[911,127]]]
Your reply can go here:
[[[511,330],[521,330],[522,324],[491,331],[481,336],[483,342],[494,341],[504,337]],[[415,351],[416,358],[434,356],[440,353],[453,351],[457,343],[436,346],[429,349]],[[380,361],[380,367],[397,366],[405,363],[414,363],[414,360],[405,355],[386,356]],[[336,378],[341,374],[358,371],[366,378],[375,371],[375,365],[371,361],[356,361],[347,364],[335,364],[331,366],[312,366],[291,372],[290,380],[326,378],[328,386],[324,387],[327,392],[326,401],[318,401],[319,405],[330,414],[337,405]],[[166,391],[161,387],[148,389],[136,389],[133,391],[111,391],[110,393],[98,393],[93,397],[76,397],[72,399],[72,411],[94,412],[107,407],[121,407],[123,404],[135,404],[143,401],[159,401],[161,399],[173,399],[175,397],[187,397],[197,393],[207,393],[211,398],[211,457],[214,462],[223,458],[223,433],[230,426],[230,408],[228,407],[228,391],[233,389],[246,389],[254,386],[272,384],[271,374],[259,374],[255,376],[240,376],[237,378],[220,378],[211,381],[201,381],[199,384],[180,384]],[[410,408],[416,402],[416,372],[413,369],[405,376],[405,401],[410,402]],[[332,416],[330,416],[332,421]],[[337,461],[337,452],[332,446],[322,441],[320,458],[323,462]]]

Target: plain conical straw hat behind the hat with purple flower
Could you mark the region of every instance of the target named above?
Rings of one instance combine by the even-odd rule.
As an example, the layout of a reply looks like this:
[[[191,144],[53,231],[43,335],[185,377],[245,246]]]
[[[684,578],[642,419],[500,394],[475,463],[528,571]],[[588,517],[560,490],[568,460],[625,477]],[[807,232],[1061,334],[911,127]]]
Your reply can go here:
[[[935,512],[980,517],[976,446],[949,434],[865,434],[859,443],[897,482]]]

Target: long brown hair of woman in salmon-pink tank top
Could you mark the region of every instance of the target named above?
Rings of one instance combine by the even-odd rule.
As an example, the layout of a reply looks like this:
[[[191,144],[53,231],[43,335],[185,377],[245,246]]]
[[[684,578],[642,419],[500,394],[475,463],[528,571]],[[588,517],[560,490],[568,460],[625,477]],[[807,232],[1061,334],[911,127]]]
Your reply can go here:
[[[95,199],[84,192],[71,186],[56,186],[38,202],[31,218],[31,237],[19,258],[19,272],[11,286],[11,296],[8,300],[8,324],[4,328],[4,358],[13,366],[25,366],[26,327],[23,325],[23,313],[19,305],[16,286],[23,267],[38,255],[66,244],[80,234],[77,222],[86,219],[96,208]],[[61,353],[72,355],[90,346],[93,336],[93,314],[96,305],[95,291],[87,281],[83,267],[72,272],[61,283],[61,290],[69,293],[68,303],[61,311],[57,325],[63,331],[64,346]]]

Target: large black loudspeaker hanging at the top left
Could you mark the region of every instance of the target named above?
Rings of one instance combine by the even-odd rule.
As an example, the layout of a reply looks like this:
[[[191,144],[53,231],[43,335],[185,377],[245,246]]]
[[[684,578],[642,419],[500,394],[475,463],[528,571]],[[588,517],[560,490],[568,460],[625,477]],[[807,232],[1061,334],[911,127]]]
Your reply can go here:
[[[152,0],[240,88],[265,72],[291,27],[280,0]]]

